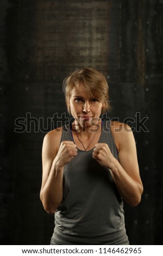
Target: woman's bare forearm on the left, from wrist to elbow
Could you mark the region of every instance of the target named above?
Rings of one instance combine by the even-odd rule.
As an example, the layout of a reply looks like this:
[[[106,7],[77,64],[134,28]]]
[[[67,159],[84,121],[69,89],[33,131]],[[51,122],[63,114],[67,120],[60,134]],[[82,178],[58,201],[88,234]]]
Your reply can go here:
[[[63,197],[63,167],[58,166],[56,161],[50,169],[50,173],[41,190],[40,198],[45,211],[54,214]]]

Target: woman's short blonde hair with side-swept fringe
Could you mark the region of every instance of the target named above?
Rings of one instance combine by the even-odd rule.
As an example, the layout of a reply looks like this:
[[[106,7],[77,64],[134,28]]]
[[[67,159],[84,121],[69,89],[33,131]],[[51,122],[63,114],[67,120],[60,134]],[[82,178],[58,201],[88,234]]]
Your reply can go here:
[[[110,111],[109,103],[109,87],[106,78],[97,70],[92,68],[77,69],[63,80],[63,92],[66,97],[66,104],[68,112],[69,99],[71,96],[71,90],[76,87],[77,89],[85,90],[87,94],[95,99],[105,102],[105,107],[102,108],[102,113],[107,110]]]

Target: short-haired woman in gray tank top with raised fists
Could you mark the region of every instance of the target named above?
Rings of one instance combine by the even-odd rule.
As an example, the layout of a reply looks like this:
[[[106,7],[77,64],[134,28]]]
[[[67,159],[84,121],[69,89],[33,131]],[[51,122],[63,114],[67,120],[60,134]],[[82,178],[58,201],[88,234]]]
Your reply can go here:
[[[128,245],[123,200],[143,191],[131,128],[101,120],[110,108],[100,72],[76,70],[63,81],[73,123],[45,135],[40,198],[55,213],[51,245]]]

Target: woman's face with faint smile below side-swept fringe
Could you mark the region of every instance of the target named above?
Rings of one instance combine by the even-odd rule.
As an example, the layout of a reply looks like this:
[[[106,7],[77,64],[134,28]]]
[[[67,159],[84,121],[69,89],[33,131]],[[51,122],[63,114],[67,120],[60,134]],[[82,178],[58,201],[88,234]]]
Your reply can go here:
[[[74,87],[71,91],[69,100],[70,112],[81,126],[90,126],[99,120],[104,106],[104,102],[91,97],[84,90],[78,90]]]

